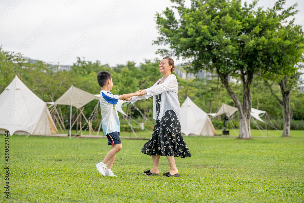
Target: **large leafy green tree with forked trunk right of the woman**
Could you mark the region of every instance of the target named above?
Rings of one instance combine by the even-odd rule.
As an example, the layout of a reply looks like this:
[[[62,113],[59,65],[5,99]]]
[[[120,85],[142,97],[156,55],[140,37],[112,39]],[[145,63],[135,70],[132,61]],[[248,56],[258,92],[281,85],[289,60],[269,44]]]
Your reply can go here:
[[[240,0],[191,0],[191,7],[184,0],[172,9],[157,13],[157,28],[161,37],[154,44],[169,44],[170,49],[159,49],[162,55],[175,55],[189,61],[188,71],[216,70],[239,111],[239,138],[249,139],[252,98],[250,85],[255,75],[268,73],[289,75],[294,72],[295,61],[280,61],[284,55],[298,55],[302,33],[288,40],[289,30],[283,26],[286,18],[293,16],[296,5],[283,10],[284,0],[273,8],[257,8],[257,1],[244,6]],[[178,16],[173,9],[177,11]],[[278,14],[280,13],[280,14]],[[300,48],[299,48],[300,47]],[[228,82],[229,76],[242,81],[243,95],[239,98]]]

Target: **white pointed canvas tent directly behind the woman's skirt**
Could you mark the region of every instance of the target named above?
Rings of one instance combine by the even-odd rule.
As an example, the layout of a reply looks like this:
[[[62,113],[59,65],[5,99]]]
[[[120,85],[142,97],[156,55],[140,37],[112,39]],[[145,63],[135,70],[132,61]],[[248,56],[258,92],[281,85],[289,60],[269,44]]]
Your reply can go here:
[[[181,105],[180,110],[181,132],[186,136],[213,136],[217,134],[208,114],[196,106],[188,96]]]

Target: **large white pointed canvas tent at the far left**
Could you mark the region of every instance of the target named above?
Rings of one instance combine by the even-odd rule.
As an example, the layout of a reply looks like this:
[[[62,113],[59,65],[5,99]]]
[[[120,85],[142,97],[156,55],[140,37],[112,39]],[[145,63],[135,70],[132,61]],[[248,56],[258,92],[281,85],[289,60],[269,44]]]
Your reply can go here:
[[[0,95],[0,114],[0,133],[58,134],[47,104],[17,76]]]

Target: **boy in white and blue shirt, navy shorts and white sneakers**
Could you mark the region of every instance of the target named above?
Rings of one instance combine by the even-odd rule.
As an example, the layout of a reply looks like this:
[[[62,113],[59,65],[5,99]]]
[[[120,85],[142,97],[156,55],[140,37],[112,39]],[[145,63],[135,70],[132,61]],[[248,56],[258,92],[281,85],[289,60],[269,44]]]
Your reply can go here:
[[[113,87],[111,73],[101,71],[97,75],[97,81],[101,87],[100,91],[100,108],[102,116],[102,131],[108,138],[108,145],[111,145],[110,151],[107,153],[102,162],[96,164],[98,172],[102,176],[116,177],[112,169],[117,152],[122,149],[119,138],[120,124],[115,104],[118,100],[128,100],[130,97],[138,95],[138,93],[130,93],[123,95],[114,95],[110,91]]]

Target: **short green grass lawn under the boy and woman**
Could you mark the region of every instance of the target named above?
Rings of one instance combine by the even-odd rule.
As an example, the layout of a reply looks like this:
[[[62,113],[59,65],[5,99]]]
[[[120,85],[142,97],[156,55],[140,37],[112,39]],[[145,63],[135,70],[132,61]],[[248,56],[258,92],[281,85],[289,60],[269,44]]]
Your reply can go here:
[[[247,141],[223,136],[184,139],[192,157],[175,158],[180,177],[141,175],[152,165],[151,157],[140,152],[146,140],[122,139],[123,149],[112,168],[117,177],[110,178],[102,177],[95,167],[109,150],[105,139],[13,135],[9,138],[10,199],[6,200],[3,192],[0,199],[3,202],[304,201],[304,131],[292,131],[290,138],[278,135]],[[160,172],[167,170],[168,161],[161,157]]]

